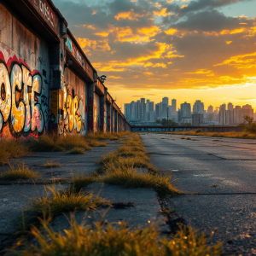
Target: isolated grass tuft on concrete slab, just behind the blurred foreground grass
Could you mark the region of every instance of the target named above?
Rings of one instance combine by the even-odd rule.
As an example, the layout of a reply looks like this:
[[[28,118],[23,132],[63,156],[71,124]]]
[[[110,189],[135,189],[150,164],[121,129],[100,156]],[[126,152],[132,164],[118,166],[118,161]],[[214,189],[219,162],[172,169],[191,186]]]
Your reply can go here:
[[[110,203],[99,196],[84,193],[75,193],[72,189],[64,192],[56,191],[55,187],[46,187],[52,195],[46,195],[33,199],[31,209],[33,211],[47,215],[58,215],[62,212],[73,211],[89,211],[94,210],[102,205],[110,205]]]

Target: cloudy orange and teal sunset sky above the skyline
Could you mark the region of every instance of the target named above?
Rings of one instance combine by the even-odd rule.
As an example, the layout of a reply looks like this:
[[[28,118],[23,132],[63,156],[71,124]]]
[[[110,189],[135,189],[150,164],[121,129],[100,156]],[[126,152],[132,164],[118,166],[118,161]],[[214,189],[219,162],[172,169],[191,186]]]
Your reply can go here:
[[[256,0],[53,0],[119,106],[256,108]]]

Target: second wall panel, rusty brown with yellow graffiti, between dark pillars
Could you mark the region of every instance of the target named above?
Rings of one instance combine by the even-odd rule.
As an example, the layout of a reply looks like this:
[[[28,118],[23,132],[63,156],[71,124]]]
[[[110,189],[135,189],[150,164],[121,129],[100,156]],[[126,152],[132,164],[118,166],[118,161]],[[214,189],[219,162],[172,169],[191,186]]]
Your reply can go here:
[[[85,135],[88,129],[86,85],[69,69],[65,71],[64,84],[63,113],[58,113],[59,127],[61,127],[59,133]]]

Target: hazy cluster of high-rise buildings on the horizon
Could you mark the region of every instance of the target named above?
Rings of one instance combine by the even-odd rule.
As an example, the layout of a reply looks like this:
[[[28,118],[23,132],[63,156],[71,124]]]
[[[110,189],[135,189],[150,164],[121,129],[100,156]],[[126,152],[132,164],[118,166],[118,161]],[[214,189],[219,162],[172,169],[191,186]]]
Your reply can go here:
[[[244,122],[245,116],[256,119],[251,105],[236,106],[230,102],[218,108],[212,105],[205,109],[205,105],[200,100],[195,101],[191,106],[188,102],[183,102],[177,109],[177,100],[172,99],[169,105],[169,98],[164,97],[161,102],[154,105],[145,98],[137,102],[125,104],[125,117],[131,123],[155,123],[157,119],[169,119],[176,121],[179,125],[207,126],[207,125],[239,125]]]

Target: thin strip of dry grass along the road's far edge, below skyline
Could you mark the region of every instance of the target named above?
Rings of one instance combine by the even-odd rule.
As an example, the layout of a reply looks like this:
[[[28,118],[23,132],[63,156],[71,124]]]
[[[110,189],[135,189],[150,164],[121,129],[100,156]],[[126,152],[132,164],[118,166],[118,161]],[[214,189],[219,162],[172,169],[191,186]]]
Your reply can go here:
[[[242,139],[256,139],[256,134],[248,133],[245,131],[241,131],[241,132],[178,131],[178,132],[167,132],[167,133],[176,134],[176,135],[202,136],[202,137],[230,137],[230,138],[242,138]]]

